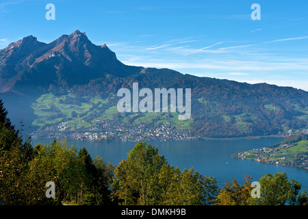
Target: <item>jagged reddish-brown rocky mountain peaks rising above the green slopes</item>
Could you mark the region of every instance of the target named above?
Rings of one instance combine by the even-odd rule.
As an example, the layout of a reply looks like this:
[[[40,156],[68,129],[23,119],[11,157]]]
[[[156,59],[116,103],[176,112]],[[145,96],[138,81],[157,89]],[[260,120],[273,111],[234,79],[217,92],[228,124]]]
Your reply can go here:
[[[71,87],[103,77],[105,73],[125,77],[141,70],[142,67],[123,64],[106,45],[92,44],[79,30],[50,43],[27,36],[0,50],[0,79],[6,84],[2,83],[1,92],[23,93],[21,87],[24,83],[29,86],[29,81],[34,81],[34,86],[46,81],[42,84],[44,89],[50,84]],[[45,72],[46,77],[39,72]]]

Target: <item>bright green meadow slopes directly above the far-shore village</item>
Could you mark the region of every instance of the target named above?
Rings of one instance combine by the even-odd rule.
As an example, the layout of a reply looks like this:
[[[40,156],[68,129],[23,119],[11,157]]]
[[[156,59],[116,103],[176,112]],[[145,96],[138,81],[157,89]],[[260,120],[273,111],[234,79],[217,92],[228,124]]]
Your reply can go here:
[[[101,120],[118,120],[121,123],[140,125],[142,123],[155,124],[170,123],[177,129],[190,129],[192,118],[179,120],[177,112],[166,113],[119,113],[116,102],[110,99],[101,99],[100,96],[89,98],[88,96],[77,97],[68,93],[61,96],[43,94],[31,105],[37,118],[33,125],[40,130],[50,125],[67,123],[67,128],[97,127]],[[170,109],[169,109],[170,110]]]

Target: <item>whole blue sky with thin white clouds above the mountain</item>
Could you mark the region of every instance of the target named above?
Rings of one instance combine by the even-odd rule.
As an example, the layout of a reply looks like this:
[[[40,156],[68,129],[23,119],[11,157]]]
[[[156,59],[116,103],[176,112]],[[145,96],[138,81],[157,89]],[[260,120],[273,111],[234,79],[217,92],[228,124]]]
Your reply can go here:
[[[47,21],[47,3],[55,21]],[[251,19],[251,5],[261,20]],[[308,91],[308,1],[0,0],[0,49],[76,29],[129,65]]]

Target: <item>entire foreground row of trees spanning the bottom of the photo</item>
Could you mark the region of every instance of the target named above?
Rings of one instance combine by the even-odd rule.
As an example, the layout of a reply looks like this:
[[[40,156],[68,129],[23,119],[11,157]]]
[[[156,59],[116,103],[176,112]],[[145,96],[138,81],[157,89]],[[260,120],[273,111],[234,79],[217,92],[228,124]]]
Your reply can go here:
[[[157,148],[138,143],[117,166],[66,142],[32,147],[7,118],[0,101],[0,201],[2,205],[307,205],[300,183],[285,173],[264,175],[260,198],[251,196],[251,177],[218,187],[214,177],[179,170]],[[47,198],[46,183],[55,183]]]

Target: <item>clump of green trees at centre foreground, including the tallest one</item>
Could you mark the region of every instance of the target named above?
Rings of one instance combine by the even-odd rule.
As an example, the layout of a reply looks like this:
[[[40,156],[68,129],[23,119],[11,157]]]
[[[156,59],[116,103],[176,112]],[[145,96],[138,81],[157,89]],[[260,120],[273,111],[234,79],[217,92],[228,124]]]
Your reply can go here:
[[[125,205],[210,205],[218,192],[213,177],[170,166],[158,150],[138,143],[114,170],[114,196]]]

